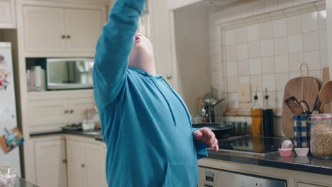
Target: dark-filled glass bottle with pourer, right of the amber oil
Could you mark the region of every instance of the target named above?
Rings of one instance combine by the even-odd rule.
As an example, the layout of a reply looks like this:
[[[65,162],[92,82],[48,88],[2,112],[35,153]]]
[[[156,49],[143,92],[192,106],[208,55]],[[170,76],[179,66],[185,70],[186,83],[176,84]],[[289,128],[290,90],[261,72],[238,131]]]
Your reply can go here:
[[[265,88],[266,94],[262,109],[262,131],[265,137],[274,137],[274,125],[273,125],[273,110],[269,106],[269,95],[267,94],[267,88]]]

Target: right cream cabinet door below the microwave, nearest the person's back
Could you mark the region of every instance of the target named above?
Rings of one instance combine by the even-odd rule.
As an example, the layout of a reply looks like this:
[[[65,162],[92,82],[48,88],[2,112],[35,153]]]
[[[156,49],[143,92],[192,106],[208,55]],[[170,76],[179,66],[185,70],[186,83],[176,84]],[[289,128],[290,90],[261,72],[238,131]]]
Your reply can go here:
[[[84,98],[70,98],[69,105],[69,123],[82,123],[82,120],[87,118],[87,108],[94,108],[94,98],[92,96]]]

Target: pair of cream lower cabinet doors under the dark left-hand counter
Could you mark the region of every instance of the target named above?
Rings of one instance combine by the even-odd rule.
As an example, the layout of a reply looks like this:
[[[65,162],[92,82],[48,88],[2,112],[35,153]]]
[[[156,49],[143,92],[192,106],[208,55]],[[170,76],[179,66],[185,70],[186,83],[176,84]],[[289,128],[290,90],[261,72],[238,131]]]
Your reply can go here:
[[[106,145],[91,137],[48,135],[28,140],[28,180],[40,187],[107,187]]]

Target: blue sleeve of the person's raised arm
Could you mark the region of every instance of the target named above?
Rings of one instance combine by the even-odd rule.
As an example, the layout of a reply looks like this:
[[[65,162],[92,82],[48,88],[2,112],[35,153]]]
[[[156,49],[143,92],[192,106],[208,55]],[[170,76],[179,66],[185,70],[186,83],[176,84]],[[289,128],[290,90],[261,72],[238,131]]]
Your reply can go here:
[[[94,97],[101,108],[114,101],[126,80],[128,58],[144,4],[145,0],[117,0],[103,27],[93,70]]]

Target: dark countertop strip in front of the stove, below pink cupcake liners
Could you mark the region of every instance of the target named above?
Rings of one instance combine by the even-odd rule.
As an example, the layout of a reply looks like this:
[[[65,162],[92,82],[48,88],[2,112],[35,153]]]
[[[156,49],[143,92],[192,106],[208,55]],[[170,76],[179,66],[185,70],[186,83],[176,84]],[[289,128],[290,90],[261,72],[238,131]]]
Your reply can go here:
[[[274,167],[294,171],[304,171],[314,174],[332,176],[332,159],[316,159],[309,155],[307,157],[297,157],[293,151],[291,157],[280,157],[278,152],[267,154],[266,156],[245,154],[240,152],[227,152],[220,150],[218,153],[214,149],[208,149],[209,159],[218,159],[229,162],[243,164],[253,164],[258,166]]]

